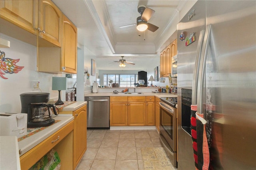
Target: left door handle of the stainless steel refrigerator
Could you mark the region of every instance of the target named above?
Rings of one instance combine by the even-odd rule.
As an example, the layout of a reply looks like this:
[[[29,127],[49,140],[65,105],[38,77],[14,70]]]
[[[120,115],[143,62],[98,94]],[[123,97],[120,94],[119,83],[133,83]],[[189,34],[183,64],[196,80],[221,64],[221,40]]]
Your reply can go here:
[[[196,105],[196,96],[197,96],[197,85],[198,85],[198,73],[199,73],[199,63],[202,52],[202,45],[204,40],[204,30],[200,31],[198,38],[198,45],[196,48],[196,59],[193,73],[193,84],[192,84],[192,105]]]

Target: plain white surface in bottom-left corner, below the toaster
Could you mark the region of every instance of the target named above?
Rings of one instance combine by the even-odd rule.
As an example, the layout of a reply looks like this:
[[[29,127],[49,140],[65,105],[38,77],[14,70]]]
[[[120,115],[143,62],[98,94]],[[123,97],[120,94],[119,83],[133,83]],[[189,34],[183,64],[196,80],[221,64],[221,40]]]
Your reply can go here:
[[[17,136],[0,137],[0,170],[20,170]]]

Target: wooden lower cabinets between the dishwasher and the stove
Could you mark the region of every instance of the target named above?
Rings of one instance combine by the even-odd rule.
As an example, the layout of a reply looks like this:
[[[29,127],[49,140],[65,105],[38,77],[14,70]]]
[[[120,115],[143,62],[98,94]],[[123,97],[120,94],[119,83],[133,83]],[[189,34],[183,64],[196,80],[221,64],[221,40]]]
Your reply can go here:
[[[110,126],[154,126],[154,96],[110,97]]]

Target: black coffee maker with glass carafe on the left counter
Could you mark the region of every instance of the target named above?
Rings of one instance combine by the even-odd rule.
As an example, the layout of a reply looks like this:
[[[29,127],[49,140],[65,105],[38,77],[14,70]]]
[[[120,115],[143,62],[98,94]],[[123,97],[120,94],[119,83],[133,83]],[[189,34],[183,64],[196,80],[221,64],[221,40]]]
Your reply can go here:
[[[50,93],[22,93],[20,94],[21,113],[28,114],[28,128],[46,127],[52,125],[55,120],[51,118],[52,108],[57,115],[54,105],[47,104]]]

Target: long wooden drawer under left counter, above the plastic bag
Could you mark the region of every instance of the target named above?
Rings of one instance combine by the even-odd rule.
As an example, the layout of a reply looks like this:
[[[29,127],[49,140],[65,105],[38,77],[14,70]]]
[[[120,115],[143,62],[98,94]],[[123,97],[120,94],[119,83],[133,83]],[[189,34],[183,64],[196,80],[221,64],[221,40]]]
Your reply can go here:
[[[29,169],[38,160],[40,160],[47,152],[49,152],[56,144],[58,144],[65,136],[67,136],[74,129],[74,121],[68,123],[40,144],[20,156],[20,166],[22,170]]]

